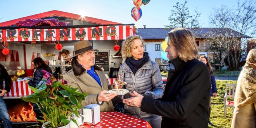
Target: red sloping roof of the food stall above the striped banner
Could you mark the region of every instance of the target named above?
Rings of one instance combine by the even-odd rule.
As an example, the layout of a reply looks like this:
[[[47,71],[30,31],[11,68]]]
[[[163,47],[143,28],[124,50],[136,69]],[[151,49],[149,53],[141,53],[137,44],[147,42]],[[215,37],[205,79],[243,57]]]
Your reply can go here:
[[[76,20],[91,22],[91,23],[95,23],[95,24],[99,24],[99,25],[121,24],[121,23],[118,23],[118,22],[106,21],[106,20],[103,20],[103,19],[97,19],[97,18],[88,17],[88,16],[85,16],[84,18],[82,18],[78,14],[62,12],[62,11],[59,11],[59,10],[52,10],[52,11],[43,12],[43,13],[40,13],[40,14],[21,17],[21,18],[18,18],[18,19],[13,19],[13,20],[10,20],[10,21],[0,22],[0,26],[13,26],[13,25],[16,25],[16,23],[21,21],[22,19],[42,19],[42,18],[51,17],[51,16],[67,17],[67,18],[70,18],[70,19],[76,19]]]

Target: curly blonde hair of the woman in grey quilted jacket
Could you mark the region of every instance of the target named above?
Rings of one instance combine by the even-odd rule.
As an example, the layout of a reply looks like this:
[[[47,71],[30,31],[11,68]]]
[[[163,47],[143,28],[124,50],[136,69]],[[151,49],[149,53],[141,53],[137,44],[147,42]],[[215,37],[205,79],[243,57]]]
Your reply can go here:
[[[133,50],[133,40],[140,39],[142,44],[144,45],[144,40],[141,36],[138,35],[132,35],[128,36],[125,41],[122,42],[122,49],[121,54],[123,59],[126,59],[127,57],[131,57],[131,51]]]

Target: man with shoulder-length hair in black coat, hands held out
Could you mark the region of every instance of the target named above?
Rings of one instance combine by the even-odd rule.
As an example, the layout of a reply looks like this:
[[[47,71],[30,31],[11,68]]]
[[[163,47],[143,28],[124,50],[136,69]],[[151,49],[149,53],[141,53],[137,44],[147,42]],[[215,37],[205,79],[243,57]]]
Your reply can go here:
[[[211,76],[198,60],[193,33],[185,28],[172,29],[165,51],[170,70],[163,97],[152,99],[133,91],[133,97],[123,103],[163,116],[161,128],[208,128]]]

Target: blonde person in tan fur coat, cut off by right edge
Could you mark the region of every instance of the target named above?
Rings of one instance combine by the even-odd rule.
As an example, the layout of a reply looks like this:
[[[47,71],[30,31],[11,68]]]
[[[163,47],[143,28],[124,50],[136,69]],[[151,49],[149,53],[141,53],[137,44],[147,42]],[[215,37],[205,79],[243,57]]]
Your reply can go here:
[[[231,128],[256,128],[256,49],[249,51],[237,79]]]

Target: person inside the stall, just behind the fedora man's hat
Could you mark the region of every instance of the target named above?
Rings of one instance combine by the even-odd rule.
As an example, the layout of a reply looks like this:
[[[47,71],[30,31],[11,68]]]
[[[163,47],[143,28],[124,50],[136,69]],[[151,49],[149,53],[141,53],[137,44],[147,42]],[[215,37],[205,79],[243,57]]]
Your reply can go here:
[[[70,54],[70,52],[69,52],[69,50],[66,50],[66,49],[63,49],[62,51],[61,51],[61,55],[62,55],[62,57],[63,57],[63,61],[62,61],[62,64],[63,65],[71,65],[71,55],[69,55]],[[63,68],[63,71],[62,71],[62,74],[65,74],[65,73],[67,73],[69,70],[71,70],[72,69],[72,67],[71,66],[69,66],[69,67],[64,67]]]

